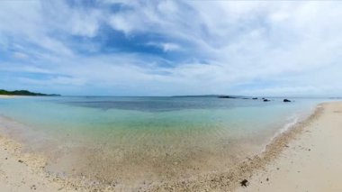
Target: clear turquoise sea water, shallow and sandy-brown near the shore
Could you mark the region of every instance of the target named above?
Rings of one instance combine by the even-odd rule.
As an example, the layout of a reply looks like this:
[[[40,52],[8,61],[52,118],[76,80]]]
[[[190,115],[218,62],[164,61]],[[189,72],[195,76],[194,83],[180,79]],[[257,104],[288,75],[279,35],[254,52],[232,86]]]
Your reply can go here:
[[[0,124],[51,171],[139,182],[229,169],[323,101],[294,100],[20,97],[0,99]]]

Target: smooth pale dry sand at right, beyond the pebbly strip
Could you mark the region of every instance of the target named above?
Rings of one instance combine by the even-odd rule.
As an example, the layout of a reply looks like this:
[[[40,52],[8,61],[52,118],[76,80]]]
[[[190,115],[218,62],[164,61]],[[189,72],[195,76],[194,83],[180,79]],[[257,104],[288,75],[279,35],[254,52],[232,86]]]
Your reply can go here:
[[[237,191],[342,191],[342,102],[322,106],[319,118]]]

